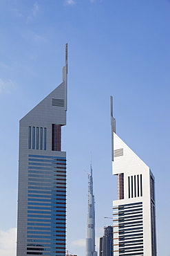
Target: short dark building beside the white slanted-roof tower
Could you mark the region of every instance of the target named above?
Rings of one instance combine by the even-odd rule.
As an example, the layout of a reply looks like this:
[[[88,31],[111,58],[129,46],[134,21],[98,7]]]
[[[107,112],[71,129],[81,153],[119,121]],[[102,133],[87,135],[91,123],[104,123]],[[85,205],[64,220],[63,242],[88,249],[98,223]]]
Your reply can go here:
[[[104,228],[104,236],[100,237],[100,254],[99,256],[113,256],[113,227]]]

